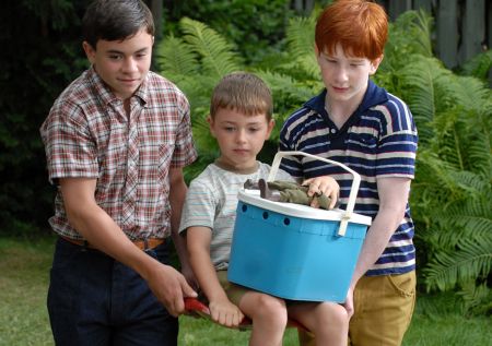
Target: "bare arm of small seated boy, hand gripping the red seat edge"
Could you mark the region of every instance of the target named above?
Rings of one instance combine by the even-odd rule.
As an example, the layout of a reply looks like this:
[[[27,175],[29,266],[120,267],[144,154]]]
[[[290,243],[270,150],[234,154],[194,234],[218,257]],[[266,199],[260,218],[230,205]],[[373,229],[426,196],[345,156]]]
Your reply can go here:
[[[213,321],[226,326],[237,326],[244,318],[239,308],[233,305],[222,288],[215,269],[210,259],[212,231],[208,227],[194,226],[186,231],[186,243],[191,267],[200,288],[209,300]]]

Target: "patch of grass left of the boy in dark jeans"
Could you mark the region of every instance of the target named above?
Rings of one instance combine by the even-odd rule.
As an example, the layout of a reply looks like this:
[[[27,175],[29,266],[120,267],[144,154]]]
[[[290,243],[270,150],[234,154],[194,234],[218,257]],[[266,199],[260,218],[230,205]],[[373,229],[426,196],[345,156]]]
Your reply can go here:
[[[0,239],[0,345],[52,345],[46,309],[52,240]]]

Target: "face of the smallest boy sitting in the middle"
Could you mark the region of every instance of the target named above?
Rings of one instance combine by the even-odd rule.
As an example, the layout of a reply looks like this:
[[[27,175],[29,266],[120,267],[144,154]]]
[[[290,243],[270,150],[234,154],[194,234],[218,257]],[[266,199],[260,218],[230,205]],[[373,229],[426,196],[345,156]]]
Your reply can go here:
[[[236,169],[256,167],[256,155],[270,136],[273,120],[263,114],[245,115],[235,109],[220,108],[209,118],[210,132],[221,148],[220,160]]]

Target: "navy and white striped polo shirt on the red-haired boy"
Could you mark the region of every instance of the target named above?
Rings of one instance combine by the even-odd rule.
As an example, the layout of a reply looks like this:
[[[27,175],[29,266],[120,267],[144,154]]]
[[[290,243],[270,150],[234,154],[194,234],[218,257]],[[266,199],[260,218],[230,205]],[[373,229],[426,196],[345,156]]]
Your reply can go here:
[[[364,99],[341,129],[325,110],[326,91],[289,117],[280,133],[280,151],[302,151],[342,163],[361,175],[354,213],[375,217],[379,199],[376,179],[413,179],[417,129],[408,106],[372,81]],[[341,167],[302,157],[285,157],[281,168],[294,177],[332,176],[340,184],[340,203],[349,199],[352,176]],[[413,222],[405,217],[366,275],[402,274],[415,269]]]

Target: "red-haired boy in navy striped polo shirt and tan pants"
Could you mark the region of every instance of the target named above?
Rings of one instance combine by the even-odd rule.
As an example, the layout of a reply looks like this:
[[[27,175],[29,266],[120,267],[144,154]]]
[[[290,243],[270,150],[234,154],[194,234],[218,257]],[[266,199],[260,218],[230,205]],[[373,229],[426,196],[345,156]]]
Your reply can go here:
[[[337,160],[362,179],[354,212],[373,222],[345,301],[353,313],[350,345],[401,345],[415,301],[408,198],[417,129],[407,105],[370,80],[383,60],[387,32],[387,15],[375,2],[338,0],[327,7],[315,33],[326,88],[295,111],[280,133],[281,151]],[[288,157],[281,167],[294,177],[331,175],[340,183],[343,207],[351,178],[337,167],[315,165]]]

